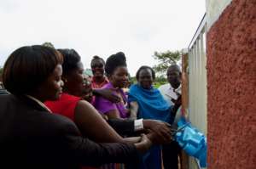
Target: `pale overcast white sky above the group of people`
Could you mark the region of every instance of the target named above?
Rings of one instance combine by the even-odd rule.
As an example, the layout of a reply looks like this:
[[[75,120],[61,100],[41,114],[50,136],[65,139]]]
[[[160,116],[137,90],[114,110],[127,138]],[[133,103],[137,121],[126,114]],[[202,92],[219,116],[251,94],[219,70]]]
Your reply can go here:
[[[0,0],[0,66],[15,49],[51,42],[73,48],[90,68],[94,55],[124,52],[134,76],[157,64],[154,51],[188,48],[205,0]]]

